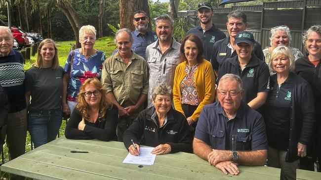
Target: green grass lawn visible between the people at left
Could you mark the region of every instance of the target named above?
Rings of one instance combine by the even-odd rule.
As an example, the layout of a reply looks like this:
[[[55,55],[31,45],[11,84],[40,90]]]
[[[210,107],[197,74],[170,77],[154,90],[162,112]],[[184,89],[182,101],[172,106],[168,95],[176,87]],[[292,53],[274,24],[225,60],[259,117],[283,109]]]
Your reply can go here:
[[[102,38],[96,39],[94,48],[105,52],[107,58],[110,57],[112,55],[113,51],[116,49],[116,45],[113,42],[113,40],[114,40],[113,38],[114,37],[102,37]],[[69,55],[71,43],[74,44],[75,41],[56,42],[56,45],[58,48],[59,64],[62,67],[64,67],[67,57]],[[31,57],[31,60],[26,60],[26,62],[24,64],[24,69],[25,70],[29,69],[32,66],[32,64],[35,63],[36,58],[37,58],[37,54],[36,54],[36,56]],[[66,127],[66,121],[63,120],[60,130],[59,130],[60,136],[64,135],[65,127]],[[27,132],[26,151],[28,152],[30,150],[31,150],[31,141],[30,141],[29,132]],[[4,152],[4,159],[5,159],[5,161],[7,161],[8,160],[8,149],[5,144],[3,146],[3,152]],[[6,173],[0,171],[0,179],[5,180],[6,178],[8,178],[8,175]]]

